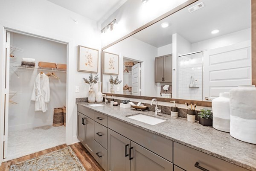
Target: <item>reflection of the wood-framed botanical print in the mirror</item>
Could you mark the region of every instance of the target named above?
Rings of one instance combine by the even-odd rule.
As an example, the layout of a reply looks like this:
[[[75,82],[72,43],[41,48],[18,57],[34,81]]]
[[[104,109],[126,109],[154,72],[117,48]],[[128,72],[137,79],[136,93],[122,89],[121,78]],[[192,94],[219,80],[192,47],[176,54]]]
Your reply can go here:
[[[119,55],[103,52],[103,74],[118,75]]]

